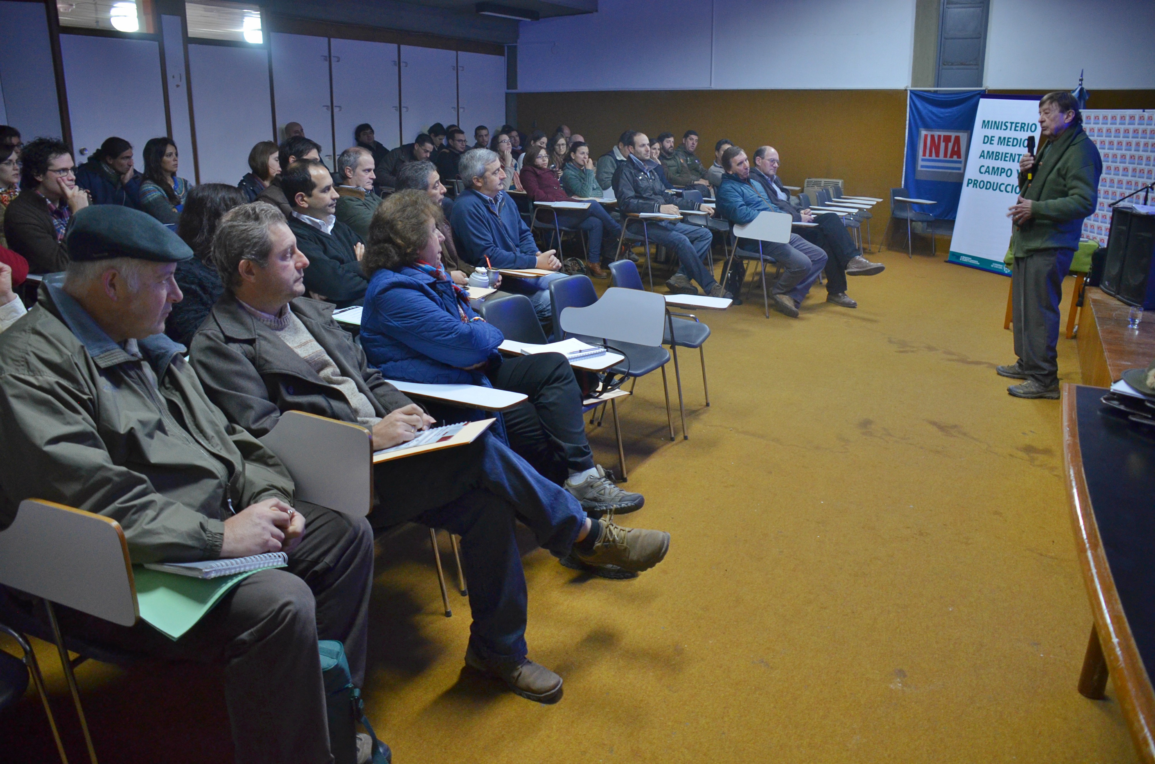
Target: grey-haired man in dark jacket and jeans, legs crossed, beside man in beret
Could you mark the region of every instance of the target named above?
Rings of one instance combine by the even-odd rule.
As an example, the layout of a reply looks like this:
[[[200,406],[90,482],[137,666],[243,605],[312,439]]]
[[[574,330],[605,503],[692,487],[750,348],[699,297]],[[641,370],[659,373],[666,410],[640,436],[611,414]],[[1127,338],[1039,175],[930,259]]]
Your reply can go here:
[[[439,211],[419,192],[401,194],[420,200],[427,214]],[[331,306],[301,295],[307,261],[271,212],[246,204],[225,216],[217,232],[214,257],[228,291],[196,334],[191,354],[209,398],[256,437],[271,432],[283,412],[305,411],[366,427],[374,450],[411,441],[433,418],[366,364],[362,349],[333,320]],[[416,225],[415,233],[435,235],[424,219]],[[425,287],[412,299],[433,305],[424,292],[437,294]],[[426,331],[439,336],[444,330],[418,328]],[[669,548],[668,533],[595,522],[492,428],[469,445],[380,464],[374,478],[379,503],[368,519],[375,527],[417,522],[461,534],[474,612],[465,664],[539,703],[560,698],[561,677],[527,658],[527,592],[515,519],[543,547],[583,564],[643,570]]]

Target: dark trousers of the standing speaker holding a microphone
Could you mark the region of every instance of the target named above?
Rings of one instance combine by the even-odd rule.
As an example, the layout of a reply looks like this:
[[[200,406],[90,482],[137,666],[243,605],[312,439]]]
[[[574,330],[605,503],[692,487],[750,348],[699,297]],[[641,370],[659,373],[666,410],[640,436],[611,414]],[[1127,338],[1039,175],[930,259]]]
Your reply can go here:
[[[1014,353],[1027,376],[1044,387],[1059,381],[1059,304],[1074,249],[1049,249],[1015,257],[1011,268]]]

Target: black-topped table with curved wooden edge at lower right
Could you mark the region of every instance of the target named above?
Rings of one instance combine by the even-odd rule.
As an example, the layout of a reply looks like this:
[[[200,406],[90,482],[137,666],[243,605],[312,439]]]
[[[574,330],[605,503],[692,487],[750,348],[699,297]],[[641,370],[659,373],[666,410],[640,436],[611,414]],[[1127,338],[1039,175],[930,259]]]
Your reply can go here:
[[[1063,385],[1063,463],[1094,626],[1079,691],[1108,676],[1139,758],[1155,763],[1155,433],[1109,413],[1101,388]]]

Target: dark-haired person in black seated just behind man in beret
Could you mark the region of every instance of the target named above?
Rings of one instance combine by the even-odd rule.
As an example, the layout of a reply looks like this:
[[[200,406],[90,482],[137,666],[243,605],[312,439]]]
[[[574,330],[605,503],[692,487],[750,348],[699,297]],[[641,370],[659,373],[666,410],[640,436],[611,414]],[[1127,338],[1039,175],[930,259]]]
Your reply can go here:
[[[193,332],[224,292],[221,275],[211,260],[213,234],[221,217],[244,203],[245,194],[225,183],[201,183],[188,192],[177,235],[193,250],[193,256],[177,263],[174,278],[185,299],[172,306],[164,322],[164,334],[185,347],[193,342]]]

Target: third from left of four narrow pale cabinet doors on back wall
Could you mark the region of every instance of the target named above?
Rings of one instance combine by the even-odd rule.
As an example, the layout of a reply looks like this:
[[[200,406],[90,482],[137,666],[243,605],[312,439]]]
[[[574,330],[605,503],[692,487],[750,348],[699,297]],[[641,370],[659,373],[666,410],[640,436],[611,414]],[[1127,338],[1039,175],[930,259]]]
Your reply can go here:
[[[457,121],[457,53],[401,46],[401,140],[411,143],[430,125]]]

